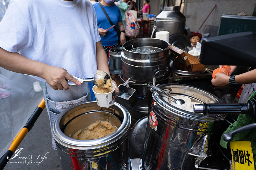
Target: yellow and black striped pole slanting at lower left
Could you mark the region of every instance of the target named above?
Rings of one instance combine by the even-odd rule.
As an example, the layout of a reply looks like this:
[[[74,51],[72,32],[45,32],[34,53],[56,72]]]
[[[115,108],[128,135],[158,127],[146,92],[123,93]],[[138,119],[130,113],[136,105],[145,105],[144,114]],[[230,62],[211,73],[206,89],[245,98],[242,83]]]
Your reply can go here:
[[[42,113],[43,109],[45,108],[45,100],[42,101],[37,106],[34,113],[30,116],[29,120],[27,121],[26,125],[20,130],[20,133],[16,136],[16,138],[11,143],[10,148],[7,152],[0,158],[0,170],[3,170],[8,163],[9,159],[12,157],[18,146],[20,145],[21,141],[27,135],[27,133],[32,129],[33,125],[35,124],[37,118]],[[9,158],[9,159],[7,159]]]

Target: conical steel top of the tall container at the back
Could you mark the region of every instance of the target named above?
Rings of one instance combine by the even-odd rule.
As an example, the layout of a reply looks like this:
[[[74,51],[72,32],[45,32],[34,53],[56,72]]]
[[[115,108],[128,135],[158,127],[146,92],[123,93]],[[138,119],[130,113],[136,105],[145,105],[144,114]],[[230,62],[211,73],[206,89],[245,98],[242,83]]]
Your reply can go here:
[[[156,20],[186,20],[186,16],[180,12],[179,6],[164,7],[164,10],[156,16]]]

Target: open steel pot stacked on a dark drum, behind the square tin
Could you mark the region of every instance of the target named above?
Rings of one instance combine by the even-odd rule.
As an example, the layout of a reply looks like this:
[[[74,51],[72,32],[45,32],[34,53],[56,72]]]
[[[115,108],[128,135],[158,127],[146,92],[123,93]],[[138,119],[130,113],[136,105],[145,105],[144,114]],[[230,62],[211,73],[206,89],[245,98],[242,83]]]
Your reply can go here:
[[[123,63],[123,81],[129,78],[129,87],[136,90],[139,103],[134,109],[126,108],[135,123],[140,118],[148,115],[152,93],[147,88],[147,83],[165,84],[168,81],[170,50],[169,43],[155,38],[138,38],[123,44],[121,52]]]

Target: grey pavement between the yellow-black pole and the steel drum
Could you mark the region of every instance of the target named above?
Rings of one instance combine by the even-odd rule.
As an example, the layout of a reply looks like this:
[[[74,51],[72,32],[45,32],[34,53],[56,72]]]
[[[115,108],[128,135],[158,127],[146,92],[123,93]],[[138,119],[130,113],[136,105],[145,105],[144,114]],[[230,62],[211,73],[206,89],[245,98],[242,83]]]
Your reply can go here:
[[[61,170],[58,152],[51,146],[51,128],[46,108],[18,149],[21,149],[20,155],[13,155],[14,158],[9,160],[4,170]],[[19,157],[27,157],[27,163],[23,163],[25,159],[21,160]],[[42,157],[45,158],[41,159]]]

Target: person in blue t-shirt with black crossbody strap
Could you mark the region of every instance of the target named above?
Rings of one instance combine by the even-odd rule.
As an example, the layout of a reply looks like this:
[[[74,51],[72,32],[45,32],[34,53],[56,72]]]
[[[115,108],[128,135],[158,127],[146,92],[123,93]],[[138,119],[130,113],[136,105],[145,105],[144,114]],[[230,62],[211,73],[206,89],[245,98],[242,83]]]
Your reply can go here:
[[[93,4],[96,11],[97,24],[99,34],[101,37],[101,43],[108,57],[109,50],[111,48],[122,46],[123,43],[125,43],[126,41],[122,16],[119,8],[116,5],[114,5],[115,1],[118,0],[102,0],[101,2]],[[105,15],[104,11],[102,10],[101,5],[106,11],[113,25],[115,25],[113,28],[111,28],[112,25],[108,20],[107,16]],[[117,35],[117,29],[120,30],[120,38]],[[120,42],[118,42],[119,39]],[[117,75],[111,75],[111,77],[116,81],[120,81]]]

